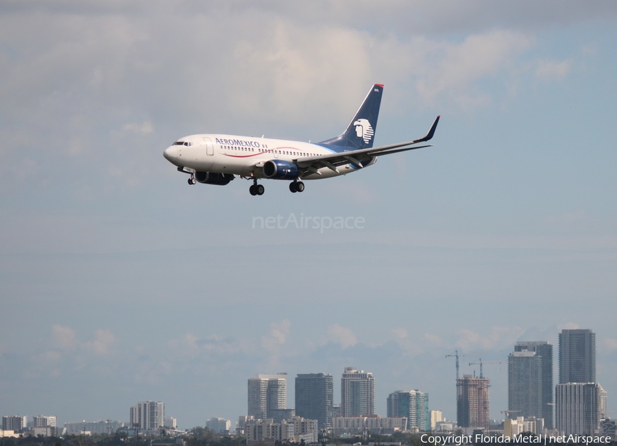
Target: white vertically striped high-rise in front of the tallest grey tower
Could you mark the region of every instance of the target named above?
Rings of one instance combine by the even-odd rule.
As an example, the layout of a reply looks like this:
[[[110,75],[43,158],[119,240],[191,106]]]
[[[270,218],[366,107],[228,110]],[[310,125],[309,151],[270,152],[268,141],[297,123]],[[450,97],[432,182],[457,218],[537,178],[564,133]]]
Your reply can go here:
[[[606,392],[594,382],[568,382],[555,387],[555,425],[566,435],[593,435],[606,415]]]

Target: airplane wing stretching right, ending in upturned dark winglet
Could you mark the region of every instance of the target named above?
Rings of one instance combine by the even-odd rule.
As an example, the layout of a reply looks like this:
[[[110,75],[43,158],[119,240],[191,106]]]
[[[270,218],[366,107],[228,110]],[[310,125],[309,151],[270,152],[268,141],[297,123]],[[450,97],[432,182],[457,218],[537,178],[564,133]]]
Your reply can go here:
[[[328,169],[338,172],[337,166],[343,166],[349,163],[355,164],[356,166],[361,166],[363,161],[370,161],[374,156],[383,156],[402,151],[422,149],[423,147],[432,147],[430,144],[420,146],[416,146],[415,144],[424,143],[425,141],[433,138],[433,134],[435,134],[435,129],[437,128],[437,123],[439,123],[439,116],[437,116],[435,122],[431,125],[431,129],[428,130],[428,133],[424,137],[413,141],[407,141],[407,143],[397,143],[383,145],[380,147],[371,147],[370,149],[329,153],[328,155],[308,156],[305,158],[297,158],[293,160],[293,162],[298,164],[298,167],[306,173],[318,173],[319,169],[322,167],[328,167]]]

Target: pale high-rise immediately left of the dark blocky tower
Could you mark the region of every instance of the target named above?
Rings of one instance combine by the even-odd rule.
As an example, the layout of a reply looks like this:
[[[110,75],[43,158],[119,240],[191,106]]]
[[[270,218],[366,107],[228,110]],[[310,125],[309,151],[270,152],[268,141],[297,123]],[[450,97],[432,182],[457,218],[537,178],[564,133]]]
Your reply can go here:
[[[248,414],[272,418],[271,410],[287,408],[287,373],[255,375],[248,380]]]

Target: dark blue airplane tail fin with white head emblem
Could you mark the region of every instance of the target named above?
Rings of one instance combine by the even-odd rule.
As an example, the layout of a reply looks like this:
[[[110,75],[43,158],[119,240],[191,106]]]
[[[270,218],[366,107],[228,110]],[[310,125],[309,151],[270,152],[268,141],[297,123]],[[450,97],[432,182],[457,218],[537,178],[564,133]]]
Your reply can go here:
[[[373,147],[382,94],[383,84],[372,86],[345,132],[341,136],[327,139],[318,144],[348,149],[370,149]]]

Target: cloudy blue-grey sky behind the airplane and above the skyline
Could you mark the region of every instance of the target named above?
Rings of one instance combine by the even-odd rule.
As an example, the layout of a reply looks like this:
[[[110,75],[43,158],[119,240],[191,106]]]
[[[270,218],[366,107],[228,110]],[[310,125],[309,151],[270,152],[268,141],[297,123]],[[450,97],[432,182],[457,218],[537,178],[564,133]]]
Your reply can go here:
[[[596,333],[616,408],[617,4],[0,3],[0,412],[180,428],[247,410],[247,378],[374,373],[376,410],[461,374],[507,409],[517,340]],[[197,184],[182,136],[319,141],[385,84],[354,175]],[[260,218],[359,218],[261,228]],[[322,220],[323,221],[323,220]],[[285,225],[282,225],[285,226]],[[555,365],[555,370],[557,367]]]

